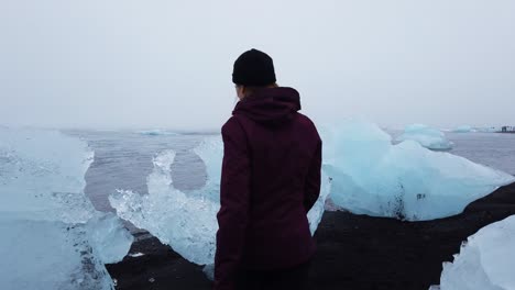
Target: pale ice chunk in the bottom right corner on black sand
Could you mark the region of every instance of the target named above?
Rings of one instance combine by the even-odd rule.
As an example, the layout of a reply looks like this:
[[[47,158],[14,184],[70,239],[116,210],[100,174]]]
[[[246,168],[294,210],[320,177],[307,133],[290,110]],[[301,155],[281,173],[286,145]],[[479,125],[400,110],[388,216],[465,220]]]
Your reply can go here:
[[[515,215],[490,224],[470,236],[445,263],[441,290],[515,289]]]

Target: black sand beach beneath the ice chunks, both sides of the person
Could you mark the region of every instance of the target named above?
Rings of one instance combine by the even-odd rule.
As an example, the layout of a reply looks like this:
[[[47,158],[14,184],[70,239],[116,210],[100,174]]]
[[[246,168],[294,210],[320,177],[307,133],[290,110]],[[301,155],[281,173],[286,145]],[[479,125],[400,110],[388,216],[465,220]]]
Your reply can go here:
[[[427,290],[438,285],[442,261],[481,227],[515,214],[515,183],[478,200],[462,214],[418,223],[326,212],[315,235],[311,289]],[[125,257],[107,265],[117,289],[210,289],[202,268],[155,237],[141,238]]]

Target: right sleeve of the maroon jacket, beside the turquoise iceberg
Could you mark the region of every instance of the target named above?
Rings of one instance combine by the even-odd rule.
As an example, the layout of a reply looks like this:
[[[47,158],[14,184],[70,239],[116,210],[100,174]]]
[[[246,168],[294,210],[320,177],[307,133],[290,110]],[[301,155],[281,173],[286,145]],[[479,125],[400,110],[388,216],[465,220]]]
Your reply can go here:
[[[313,208],[320,196],[321,147],[321,140],[318,138],[317,148],[309,165],[304,189],[304,208],[306,212]]]

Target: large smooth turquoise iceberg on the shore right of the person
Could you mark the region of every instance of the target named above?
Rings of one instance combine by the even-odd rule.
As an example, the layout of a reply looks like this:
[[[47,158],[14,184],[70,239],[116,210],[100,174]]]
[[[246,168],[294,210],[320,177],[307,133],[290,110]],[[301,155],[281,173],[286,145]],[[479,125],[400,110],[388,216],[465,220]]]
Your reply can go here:
[[[392,145],[375,124],[348,121],[322,131],[324,170],[333,202],[358,214],[424,221],[461,213],[515,181],[511,175],[414,141]]]

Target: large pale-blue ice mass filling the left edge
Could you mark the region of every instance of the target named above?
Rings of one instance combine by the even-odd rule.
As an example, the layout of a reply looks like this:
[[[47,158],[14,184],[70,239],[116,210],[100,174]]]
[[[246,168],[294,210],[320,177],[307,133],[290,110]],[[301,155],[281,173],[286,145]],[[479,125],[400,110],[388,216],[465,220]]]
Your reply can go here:
[[[0,289],[112,289],[103,264],[133,237],[84,194],[87,145],[54,131],[0,129]]]

